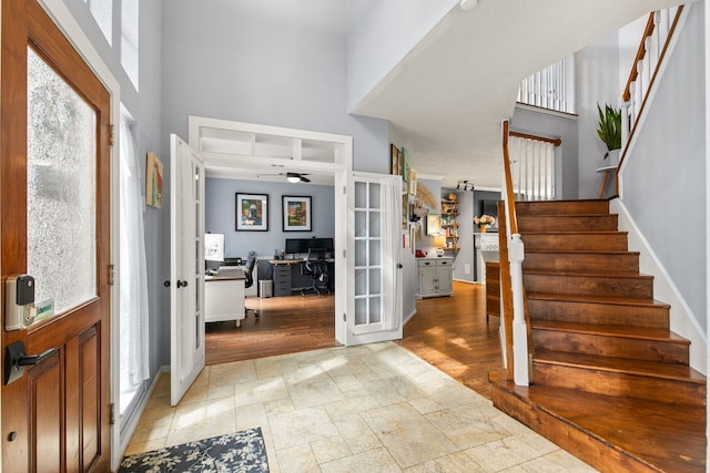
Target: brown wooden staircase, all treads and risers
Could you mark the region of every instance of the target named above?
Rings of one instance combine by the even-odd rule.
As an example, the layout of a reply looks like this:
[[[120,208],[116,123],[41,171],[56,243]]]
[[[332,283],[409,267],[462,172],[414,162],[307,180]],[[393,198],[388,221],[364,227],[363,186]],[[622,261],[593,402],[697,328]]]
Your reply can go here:
[[[600,471],[704,472],[706,378],[608,200],[516,209],[531,382],[490,373],[496,408]]]

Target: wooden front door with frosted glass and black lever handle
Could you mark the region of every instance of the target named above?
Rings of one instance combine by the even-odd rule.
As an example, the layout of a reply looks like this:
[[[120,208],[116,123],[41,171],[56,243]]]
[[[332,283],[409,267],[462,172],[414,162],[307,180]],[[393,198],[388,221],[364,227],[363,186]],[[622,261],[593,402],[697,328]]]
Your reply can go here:
[[[36,0],[1,21],[2,356],[45,354],[3,371],[2,471],[109,471],[110,94]],[[8,330],[24,274],[48,310]]]

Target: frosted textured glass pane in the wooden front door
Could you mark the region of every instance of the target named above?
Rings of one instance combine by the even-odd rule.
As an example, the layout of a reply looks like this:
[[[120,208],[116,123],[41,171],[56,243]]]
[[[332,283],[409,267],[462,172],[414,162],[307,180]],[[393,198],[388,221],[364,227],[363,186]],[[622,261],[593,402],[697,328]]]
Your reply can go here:
[[[28,48],[27,271],[60,313],[97,296],[97,115]]]

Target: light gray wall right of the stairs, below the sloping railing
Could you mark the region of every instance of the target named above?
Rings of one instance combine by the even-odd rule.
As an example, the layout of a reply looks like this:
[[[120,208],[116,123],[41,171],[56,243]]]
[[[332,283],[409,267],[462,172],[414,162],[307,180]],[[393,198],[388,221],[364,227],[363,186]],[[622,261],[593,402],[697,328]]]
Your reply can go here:
[[[638,144],[625,158],[622,202],[707,330],[704,3],[687,8]]]

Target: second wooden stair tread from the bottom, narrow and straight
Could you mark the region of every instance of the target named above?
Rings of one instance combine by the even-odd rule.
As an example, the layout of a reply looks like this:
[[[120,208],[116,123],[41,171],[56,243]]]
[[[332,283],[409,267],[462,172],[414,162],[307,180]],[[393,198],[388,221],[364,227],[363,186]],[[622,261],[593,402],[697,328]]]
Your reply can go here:
[[[562,364],[570,367],[588,367],[589,369],[636,374],[649,378],[678,380],[704,384],[706,377],[684,364],[659,363],[657,361],[632,360],[596,354],[572,353],[537,349],[534,362]]]

